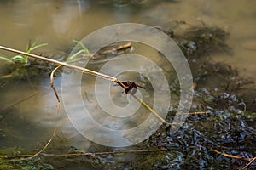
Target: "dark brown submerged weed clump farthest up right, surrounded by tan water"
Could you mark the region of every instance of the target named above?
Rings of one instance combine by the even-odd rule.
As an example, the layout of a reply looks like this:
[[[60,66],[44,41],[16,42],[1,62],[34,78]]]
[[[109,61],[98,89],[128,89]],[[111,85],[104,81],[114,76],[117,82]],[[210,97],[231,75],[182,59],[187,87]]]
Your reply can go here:
[[[214,26],[191,26],[182,20],[172,20],[169,28],[160,28],[177,42],[183,54],[198,59],[209,54],[231,54],[231,48],[225,43],[229,33]]]

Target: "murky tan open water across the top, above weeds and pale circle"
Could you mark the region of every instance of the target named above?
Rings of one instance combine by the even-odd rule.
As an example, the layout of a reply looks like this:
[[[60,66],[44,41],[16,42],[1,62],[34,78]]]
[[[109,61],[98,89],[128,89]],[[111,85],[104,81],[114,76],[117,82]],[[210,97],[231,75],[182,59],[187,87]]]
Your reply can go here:
[[[79,3],[78,3],[79,2]],[[105,2],[105,3],[104,3]],[[29,39],[47,42],[47,50],[69,47],[91,31],[122,22],[161,26],[170,20],[219,26],[230,32],[232,56],[214,56],[238,68],[242,75],[255,72],[255,2],[252,0],[146,1],[114,4],[112,1],[4,1],[0,6],[1,44],[26,48]],[[65,20],[64,20],[65,19]]]

